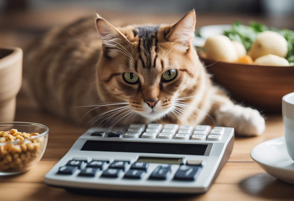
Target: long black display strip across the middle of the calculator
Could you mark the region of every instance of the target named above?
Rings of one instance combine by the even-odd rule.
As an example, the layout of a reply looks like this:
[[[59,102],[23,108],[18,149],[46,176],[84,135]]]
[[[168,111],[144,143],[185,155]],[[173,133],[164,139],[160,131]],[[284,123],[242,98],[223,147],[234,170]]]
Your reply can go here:
[[[204,155],[207,144],[87,140],[82,151]]]

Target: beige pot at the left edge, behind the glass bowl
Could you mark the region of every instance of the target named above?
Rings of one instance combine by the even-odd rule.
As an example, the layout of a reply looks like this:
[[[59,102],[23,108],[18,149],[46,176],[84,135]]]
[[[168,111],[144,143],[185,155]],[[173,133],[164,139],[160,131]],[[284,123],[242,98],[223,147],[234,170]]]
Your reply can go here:
[[[0,122],[14,121],[22,81],[21,48],[0,47]]]

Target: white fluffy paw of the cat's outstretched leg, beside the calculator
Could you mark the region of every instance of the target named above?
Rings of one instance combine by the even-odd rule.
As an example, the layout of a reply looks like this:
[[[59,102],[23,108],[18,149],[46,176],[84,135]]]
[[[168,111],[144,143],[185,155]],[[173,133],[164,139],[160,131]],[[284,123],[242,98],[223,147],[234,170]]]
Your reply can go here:
[[[256,136],[263,133],[265,120],[258,110],[240,105],[224,105],[215,112],[220,126],[233,127],[237,135]]]

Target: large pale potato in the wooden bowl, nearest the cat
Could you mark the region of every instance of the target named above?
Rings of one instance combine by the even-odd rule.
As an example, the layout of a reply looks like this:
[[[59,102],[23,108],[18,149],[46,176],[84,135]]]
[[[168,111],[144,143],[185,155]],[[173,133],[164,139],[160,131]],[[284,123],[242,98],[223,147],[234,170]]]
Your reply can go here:
[[[213,61],[236,61],[238,53],[230,38],[224,35],[214,35],[207,38],[204,46],[206,58]]]

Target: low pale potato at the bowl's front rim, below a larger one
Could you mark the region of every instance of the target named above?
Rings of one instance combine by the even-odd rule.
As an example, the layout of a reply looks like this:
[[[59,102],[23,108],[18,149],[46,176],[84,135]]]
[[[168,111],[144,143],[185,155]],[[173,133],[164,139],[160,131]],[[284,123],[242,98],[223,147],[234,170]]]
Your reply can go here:
[[[287,59],[273,54],[258,57],[255,59],[254,64],[264,66],[289,66]]]

